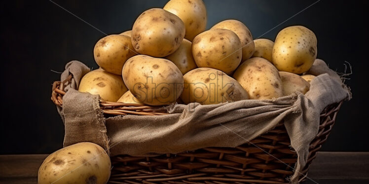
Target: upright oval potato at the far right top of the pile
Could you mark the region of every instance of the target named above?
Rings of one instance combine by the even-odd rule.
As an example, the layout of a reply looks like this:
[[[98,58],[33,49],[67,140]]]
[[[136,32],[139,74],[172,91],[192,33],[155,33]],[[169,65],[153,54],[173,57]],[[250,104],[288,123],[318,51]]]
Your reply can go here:
[[[310,69],[317,57],[317,38],[303,26],[291,26],[275,38],[272,62],[279,71],[295,74]]]

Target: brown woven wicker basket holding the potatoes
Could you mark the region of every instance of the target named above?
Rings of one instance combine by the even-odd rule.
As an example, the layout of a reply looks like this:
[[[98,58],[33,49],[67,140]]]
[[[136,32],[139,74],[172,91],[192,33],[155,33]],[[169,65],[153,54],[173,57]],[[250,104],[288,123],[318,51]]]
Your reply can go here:
[[[52,101],[62,106],[64,87],[71,82],[56,81]],[[311,142],[305,168],[306,174],[317,151],[327,140],[342,102],[328,106],[320,115],[319,133]],[[100,101],[106,115],[164,115],[164,107]],[[204,148],[178,154],[151,157],[119,155],[111,157],[111,184],[288,184],[297,161],[290,147],[290,138],[283,122],[274,129],[236,148]]]

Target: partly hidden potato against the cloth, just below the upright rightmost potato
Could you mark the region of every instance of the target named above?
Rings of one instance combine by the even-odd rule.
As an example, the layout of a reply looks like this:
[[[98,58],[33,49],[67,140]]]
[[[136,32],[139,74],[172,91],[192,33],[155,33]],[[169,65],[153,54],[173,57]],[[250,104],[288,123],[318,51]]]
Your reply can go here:
[[[294,92],[305,94],[310,89],[310,84],[299,75],[285,71],[280,71],[279,75],[281,76],[284,95],[290,95]]]

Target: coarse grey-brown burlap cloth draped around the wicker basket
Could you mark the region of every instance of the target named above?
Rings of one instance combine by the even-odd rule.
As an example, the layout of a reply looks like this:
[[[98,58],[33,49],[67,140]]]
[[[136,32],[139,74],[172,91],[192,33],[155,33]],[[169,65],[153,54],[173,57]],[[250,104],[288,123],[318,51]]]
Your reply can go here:
[[[336,72],[324,61],[316,60],[308,73],[319,75],[311,81],[305,95],[272,100],[243,100],[217,105],[172,105],[169,115],[116,116],[104,118],[99,96],[76,91],[79,80],[90,69],[71,61],[61,75],[74,78],[63,97],[59,113],[65,123],[64,146],[93,142],[111,156],[181,153],[205,147],[236,147],[285,121],[291,146],[298,160],[292,183],[305,166],[310,142],[318,133],[321,111],[332,103],[349,100],[351,93]]]

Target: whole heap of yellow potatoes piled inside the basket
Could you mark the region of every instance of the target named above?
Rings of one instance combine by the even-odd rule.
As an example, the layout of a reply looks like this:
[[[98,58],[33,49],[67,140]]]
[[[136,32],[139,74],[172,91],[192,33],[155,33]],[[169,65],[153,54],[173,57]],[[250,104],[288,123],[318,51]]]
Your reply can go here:
[[[317,56],[317,38],[292,26],[275,42],[253,39],[242,22],[225,20],[205,31],[202,0],[170,0],[143,12],[131,31],[108,35],[94,48],[99,69],[79,91],[103,100],[147,105],[217,104],[272,99],[309,91],[302,75]]]

